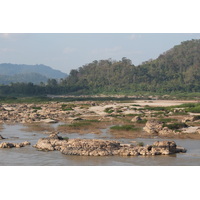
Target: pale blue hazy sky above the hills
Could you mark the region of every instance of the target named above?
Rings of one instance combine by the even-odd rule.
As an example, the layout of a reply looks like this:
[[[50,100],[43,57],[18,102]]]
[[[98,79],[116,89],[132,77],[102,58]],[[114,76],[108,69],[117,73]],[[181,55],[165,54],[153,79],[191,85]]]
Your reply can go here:
[[[127,57],[138,65],[199,38],[198,33],[1,33],[0,63],[45,64],[66,73],[108,58]]]

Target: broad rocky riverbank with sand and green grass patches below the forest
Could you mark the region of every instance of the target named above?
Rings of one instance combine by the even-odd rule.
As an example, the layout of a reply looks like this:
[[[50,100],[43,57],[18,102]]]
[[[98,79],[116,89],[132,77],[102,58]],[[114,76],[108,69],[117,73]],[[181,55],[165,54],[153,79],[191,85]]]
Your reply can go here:
[[[0,124],[21,123],[29,131],[46,133],[100,134],[101,129],[107,129],[116,138],[200,139],[200,117],[196,112],[189,112],[198,105],[197,101],[164,100],[1,104]],[[145,129],[151,120],[161,124],[159,130]],[[56,128],[48,127],[54,123],[58,123]],[[156,129],[153,126],[151,129]]]

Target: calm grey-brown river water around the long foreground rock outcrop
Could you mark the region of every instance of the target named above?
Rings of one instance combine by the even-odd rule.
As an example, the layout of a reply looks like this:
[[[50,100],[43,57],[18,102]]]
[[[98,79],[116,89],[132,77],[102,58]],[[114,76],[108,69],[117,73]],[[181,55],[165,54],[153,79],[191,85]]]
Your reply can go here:
[[[55,126],[55,125],[52,125]],[[1,142],[31,142],[30,146],[12,149],[0,149],[0,166],[200,166],[200,140],[175,139],[177,145],[187,149],[187,153],[165,156],[70,156],[59,151],[43,152],[33,148],[39,138],[47,134],[23,130],[21,124],[3,125],[0,134],[7,138]],[[102,130],[102,134],[60,134],[69,138],[114,139],[112,135]],[[117,139],[122,143],[129,143],[133,139]],[[137,138],[134,141],[152,144],[163,139]],[[169,140],[169,139],[168,139]]]

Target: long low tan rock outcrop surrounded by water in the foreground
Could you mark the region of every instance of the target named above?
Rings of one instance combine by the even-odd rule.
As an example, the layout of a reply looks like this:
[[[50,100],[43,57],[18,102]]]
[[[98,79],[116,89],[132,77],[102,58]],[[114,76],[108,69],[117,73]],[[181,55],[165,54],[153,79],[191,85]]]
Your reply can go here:
[[[186,152],[186,149],[177,147],[174,141],[155,142],[145,147],[133,144],[121,144],[119,141],[100,139],[69,139],[64,140],[56,134],[38,140],[34,146],[39,150],[58,150],[65,155],[78,156],[154,156]]]

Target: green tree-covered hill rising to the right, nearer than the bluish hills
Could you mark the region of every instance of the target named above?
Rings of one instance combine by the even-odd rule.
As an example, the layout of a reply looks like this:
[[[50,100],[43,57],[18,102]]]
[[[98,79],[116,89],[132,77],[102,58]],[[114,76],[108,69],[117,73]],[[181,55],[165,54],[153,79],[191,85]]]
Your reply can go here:
[[[72,70],[62,85],[83,93],[200,92],[200,40],[182,42],[139,66],[125,57],[93,61]]]

